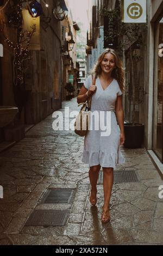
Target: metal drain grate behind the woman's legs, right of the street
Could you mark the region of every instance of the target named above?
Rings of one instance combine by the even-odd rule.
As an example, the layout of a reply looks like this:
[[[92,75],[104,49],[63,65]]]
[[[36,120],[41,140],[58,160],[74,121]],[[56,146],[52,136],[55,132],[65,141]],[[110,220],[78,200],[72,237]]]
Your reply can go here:
[[[135,170],[116,170],[114,172],[114,183],[139,182]],[[98,183],[103,183],[103,172],[99,172]]]

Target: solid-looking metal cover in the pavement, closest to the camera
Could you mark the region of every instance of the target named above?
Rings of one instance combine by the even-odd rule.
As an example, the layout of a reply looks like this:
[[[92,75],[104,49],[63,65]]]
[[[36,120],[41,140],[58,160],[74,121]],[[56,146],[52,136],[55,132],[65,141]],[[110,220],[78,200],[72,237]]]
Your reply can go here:
[[[25,226],[64,226],[69,215],[68,210],[34,210]]]

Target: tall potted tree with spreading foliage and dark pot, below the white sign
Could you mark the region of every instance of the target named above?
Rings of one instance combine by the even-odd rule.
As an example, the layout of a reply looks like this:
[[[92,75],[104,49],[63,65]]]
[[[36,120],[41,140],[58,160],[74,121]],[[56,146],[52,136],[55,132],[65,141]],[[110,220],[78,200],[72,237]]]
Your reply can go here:
[[[122,12],[120,5],[115,10],[107,10],[104,8],[101,11],[104,17],[109,16],[113,33],[104,31],[105,47],[114,48],[121,57],[124,57],[124,52],[128,53],[129,70],[126,74],[130,74],[130,81],[128,88],[125,88],[125,95],[129,100],[129,120],[124,122],[124,132],[126,141],[124,147],[126,148],[140,148],[144,137],[144,124],[136,121],[136,107],[143,101],[145,92],[141,86],[140,77],[136,76],[136,64],[141,61],[141,47],[143,47],[143,36],[145,34],[146,25],[136,23],[122,23]],[[105,26],[104,26],[105,27]],[[139,75],[138,75],[139,76]],[[137,83],[137,81],[139,81]],[[126,119],[126,118],[125,118]]]

